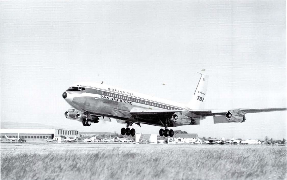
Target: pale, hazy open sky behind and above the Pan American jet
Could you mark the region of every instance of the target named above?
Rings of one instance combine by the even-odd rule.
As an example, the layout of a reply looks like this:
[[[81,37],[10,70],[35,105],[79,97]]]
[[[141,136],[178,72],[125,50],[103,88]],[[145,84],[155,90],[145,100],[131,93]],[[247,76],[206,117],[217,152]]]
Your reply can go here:
[[[104,84],[188,103],[209,75],[205,109],[286,107],[285,1],[1,1],[1,122],[118,132],[64,117],[62,93]],[[162,84],[166,85],[162,85]],[[13,128],[13,127],[11,127]],[[134,125],[137,133],[161,127]],[[199,137],[286,139],[286,111],[174,130]]]

